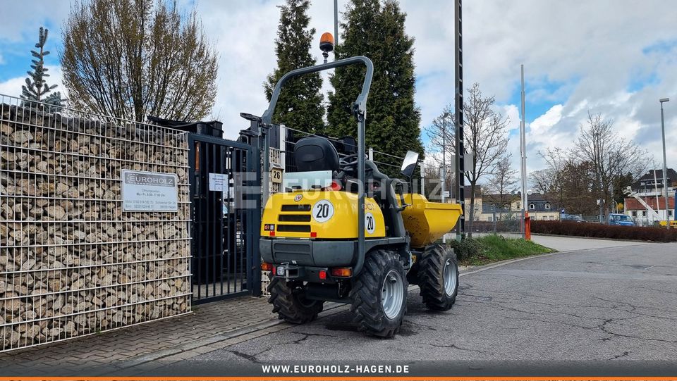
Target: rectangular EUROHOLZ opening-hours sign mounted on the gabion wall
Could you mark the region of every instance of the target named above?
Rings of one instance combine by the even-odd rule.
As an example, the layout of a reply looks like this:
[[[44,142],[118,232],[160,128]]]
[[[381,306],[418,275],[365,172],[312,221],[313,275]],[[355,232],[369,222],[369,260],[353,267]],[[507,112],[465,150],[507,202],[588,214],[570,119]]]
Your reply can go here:
[[[121,171],[122,211],[178,211],[178,177],[173,173]]]

